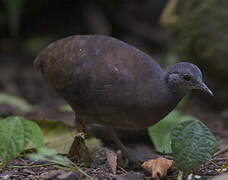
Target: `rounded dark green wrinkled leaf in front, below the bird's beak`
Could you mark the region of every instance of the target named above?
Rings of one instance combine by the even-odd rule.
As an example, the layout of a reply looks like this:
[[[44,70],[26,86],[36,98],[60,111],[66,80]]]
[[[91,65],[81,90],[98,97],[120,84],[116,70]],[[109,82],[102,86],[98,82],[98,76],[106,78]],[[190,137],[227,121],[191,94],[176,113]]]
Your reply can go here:
[[[176,167],[184,172],[210,160],[218,148],[214,135],[199,120],[179,123],[171,130],[171,139]]]

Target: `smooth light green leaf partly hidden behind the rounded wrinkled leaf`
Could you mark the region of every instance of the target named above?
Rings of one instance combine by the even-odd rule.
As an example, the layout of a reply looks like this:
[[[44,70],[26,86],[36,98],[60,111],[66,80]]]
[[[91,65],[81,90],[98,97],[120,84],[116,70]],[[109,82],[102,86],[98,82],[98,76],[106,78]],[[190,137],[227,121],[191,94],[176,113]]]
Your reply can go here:
[[[164,119],[151,126],[148,132],[155,149],[160,153],[172,153],[170,131],[177,123],[189,119],[195,118],[184,115],[179,110],[174,110]]]

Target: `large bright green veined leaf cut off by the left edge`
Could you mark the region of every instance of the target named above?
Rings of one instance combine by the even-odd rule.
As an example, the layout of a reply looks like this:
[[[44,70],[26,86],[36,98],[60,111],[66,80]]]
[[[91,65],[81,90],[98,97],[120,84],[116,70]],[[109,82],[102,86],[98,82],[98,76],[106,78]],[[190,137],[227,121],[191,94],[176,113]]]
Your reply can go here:
[[[44,144],[39,126],[21,117],[8,117],[0,120],[0,157],[1,165],[16,158],[29,142],[40,148]]]

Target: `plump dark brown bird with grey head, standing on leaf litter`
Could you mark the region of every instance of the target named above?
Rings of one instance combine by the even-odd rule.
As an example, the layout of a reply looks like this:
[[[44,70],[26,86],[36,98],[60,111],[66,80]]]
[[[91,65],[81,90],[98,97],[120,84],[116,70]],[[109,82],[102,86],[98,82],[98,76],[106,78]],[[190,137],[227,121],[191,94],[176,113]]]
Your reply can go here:
[[[126,154],[115,129],[148,128],[193,89],[213,95],[196,65],[178,62],[164,71],[143,51],[106,35],[57,40],[40,52],[34,66],[75,112],[80,144],[88,125],[101,124]],[[78,148],[77,141],[73,144],[70,154]]]

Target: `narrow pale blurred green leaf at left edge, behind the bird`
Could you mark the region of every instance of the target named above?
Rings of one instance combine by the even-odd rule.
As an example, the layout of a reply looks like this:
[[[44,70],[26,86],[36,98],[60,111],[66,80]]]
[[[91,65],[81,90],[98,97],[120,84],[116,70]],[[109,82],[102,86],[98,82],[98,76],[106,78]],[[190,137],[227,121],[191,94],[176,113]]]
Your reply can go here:
[[[17,96],[0,92],[0,103],[9,104],[19,109],[22,113],[30,112],[32,105]]]

